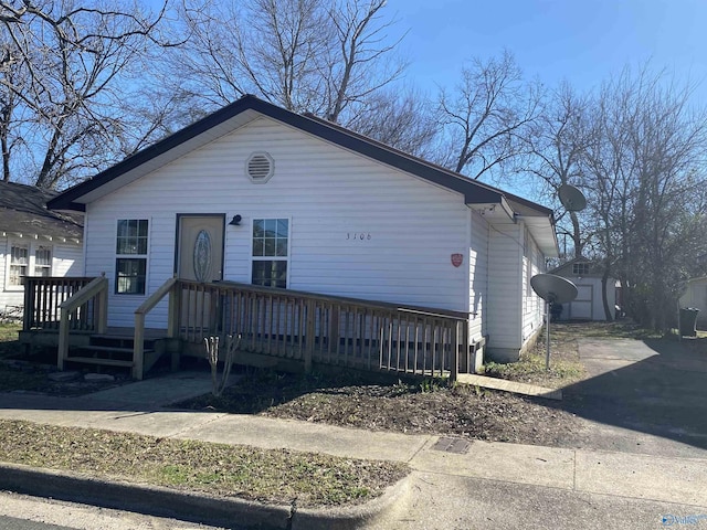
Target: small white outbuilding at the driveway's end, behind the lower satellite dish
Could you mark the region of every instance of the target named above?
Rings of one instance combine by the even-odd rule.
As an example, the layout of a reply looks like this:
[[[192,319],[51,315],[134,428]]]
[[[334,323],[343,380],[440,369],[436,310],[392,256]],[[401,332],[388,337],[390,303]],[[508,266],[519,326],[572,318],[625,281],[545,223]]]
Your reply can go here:
[[[601,267],[585,257],[578,257],[550,271],[551,274],[562,276],[577,286],[577,298],[562,305],[562,320],[606,320],[602,298]],[[606,282],[606,298],[609,308],[613,312],[616,305],[616,280]]]

